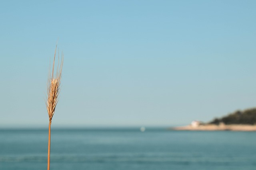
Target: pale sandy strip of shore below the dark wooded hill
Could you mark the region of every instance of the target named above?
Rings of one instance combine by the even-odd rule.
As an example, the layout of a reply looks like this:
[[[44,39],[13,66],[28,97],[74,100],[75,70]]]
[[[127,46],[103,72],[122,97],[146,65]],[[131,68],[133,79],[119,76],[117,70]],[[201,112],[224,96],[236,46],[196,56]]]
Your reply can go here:
[[[214,124],[206,124],[206,125],[198,125],[198,126],[180,126],[171,128],[175,131],[256,131],[256,125],[214,125]]]

